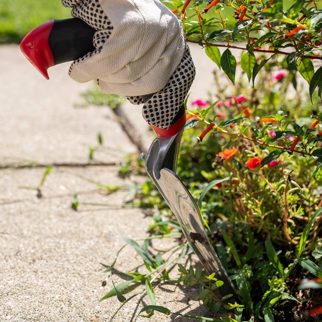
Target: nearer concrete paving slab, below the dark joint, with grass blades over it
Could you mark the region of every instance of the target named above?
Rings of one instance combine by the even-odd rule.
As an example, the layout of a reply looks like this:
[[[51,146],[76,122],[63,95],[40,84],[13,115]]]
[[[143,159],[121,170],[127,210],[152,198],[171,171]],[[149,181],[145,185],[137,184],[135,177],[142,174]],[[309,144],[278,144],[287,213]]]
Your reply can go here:
[[[42,198],[19,185],[37,185],[43,169],[15,169],[0,172],[0,320],[86,322],[109,321],[120,306],[116,297],[99,299],[112,288],[111,279],[100,263],[113,262],[123,246],[121,236],[146,238],[152,221],[140,209],[94,207],[88,203],[115,203],[124,200],[126,191],[99,194],[97,187],[83,180],[89,177],[107,185],[130,185],[121,180],[116,167],[54,169],[47,177]],[[72,174],[71,174],[72,173]],[[137,178],[134,179],[137,181]],[[79,191],[80,207],[71,209],[71,198]],[[171,249],[173,240],[153,241],[156,249]],[[117,271],[144,271],[142,260],[129,246],[120,253]],[[123,279],[114,273],[116,284]],[[174,271],[176,276],[176,271]],[[102,286],[106,281],[107,285]],[[139,286],[132,295],[144,286]],[[156,287],[157,304],[181,313],[213,317],[201,307],[197,292],[191,288],[160,284]],[[133,321],[147,296],[125,305],[113,319]],[[92,318],[92,320],[91,320]],[[137,321],[146,321],[140,317]],[[183,322],[186,319],[155,313],[151,321]]]

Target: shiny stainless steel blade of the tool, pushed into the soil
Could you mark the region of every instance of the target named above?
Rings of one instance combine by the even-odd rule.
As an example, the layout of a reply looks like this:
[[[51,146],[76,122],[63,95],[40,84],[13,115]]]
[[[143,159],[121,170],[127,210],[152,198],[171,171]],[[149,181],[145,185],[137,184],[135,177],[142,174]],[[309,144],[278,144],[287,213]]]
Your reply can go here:
[[[170,138],[157,137],[147,155],[141,156],[147,173],[175,214],[185,237],[204,268],[209,274],[215,272],[216,278],[224,282],[219,288],[221,294],[232,294],[237,299],[236,290],[208,240],[198,206],[184,183],[175,174],[182,132],[183,129]]]

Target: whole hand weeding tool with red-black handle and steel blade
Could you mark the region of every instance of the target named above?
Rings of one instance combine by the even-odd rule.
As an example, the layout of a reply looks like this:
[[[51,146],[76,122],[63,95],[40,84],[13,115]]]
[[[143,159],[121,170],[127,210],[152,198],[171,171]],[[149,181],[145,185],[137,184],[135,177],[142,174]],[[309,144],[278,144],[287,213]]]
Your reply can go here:
[[[53,20],[38,26],[23,39],[20,48],[27,59],[46,78],[48,68],[62,62],[75,60],[93,51],[95,30],[77,18]],[[150,96],[144,96],[147,100]],[[185,109],[181,107],[175,123],[168,129],[153,127],[157,138],[147,154],[142,154],[148,175],[155,183],[195,254],[209,274],[224,282],[219,289],[223,296],[237,294],[226,270],[208,240],[200,211],[194,198],[176,175],[180,141],[185,127]],[[232,299],[229,299],[232,302]]]

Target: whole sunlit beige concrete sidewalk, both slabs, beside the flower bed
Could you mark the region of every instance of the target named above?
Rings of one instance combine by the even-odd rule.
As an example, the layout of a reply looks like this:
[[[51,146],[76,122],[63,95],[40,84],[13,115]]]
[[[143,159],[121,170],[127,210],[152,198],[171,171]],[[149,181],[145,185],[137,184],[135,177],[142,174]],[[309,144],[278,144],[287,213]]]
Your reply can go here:
[[[100,263],[113,262],[124,245],[122,236],[146,238],[145,229],[152,220],[141,209],[118,206],[128,191],[107,195],[87,179],[119,186],[142,181],[121,180],[118,167],[113,166],[137,147],[108,108],[73,107],[89,84],[73,82],[67,75],[68,64],[50,69],[51,80],[45,81],[18,46],[1,46],[0,55],[0,321],[109,321],[120,303],[116,297],[99,302],[112,288],[109,273]],[[140,108],[130,108],[138,119]],[[144,121],[137,124],[148,133]],[[109,152],[97,153],[95,158],[110,166],[88,165],[88,147],[97,144],[99,130]],[[147,136],[142,138],[145,146],[151,142]],[[19,168],[28,162],[65,165],[48,175],[40,199],[36,191],[19,188],[38,186],[45,170]],[[76,192],[77,212],[71,209]],[[179,242],[158,240],[152,246],[167,250]],[[141,265],[127,246],[115,268],[130,272],[143,270]],[[115,274],[114,281],[118,284],[123,279]],[[127,296],[143,289],[140,286]],[[173,311],[214,317],[189,287],[161,284],[156,298],[157,305]],[[147,296],[134,298],[113,321],[134,321],[144,304],[149,304]],[[155,312],[150,321],[187,319]]]

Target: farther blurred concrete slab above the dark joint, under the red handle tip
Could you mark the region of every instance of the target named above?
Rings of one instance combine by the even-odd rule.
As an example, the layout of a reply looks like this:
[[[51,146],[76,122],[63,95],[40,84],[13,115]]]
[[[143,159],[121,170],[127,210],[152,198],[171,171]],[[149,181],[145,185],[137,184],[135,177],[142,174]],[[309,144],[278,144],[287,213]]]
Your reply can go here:
[[[88,145],[97,144],[99,130],[106,146],[120,149],[123,155],[136,151],[110,109],[74,108],[90,84],[71,80],[69,63],[50,68],[46,81],[19,46],[0,46],[0,56],[1,164],[18,159],[87,162]],[[119,161],[122,154],[96,157],[104,162]]]

